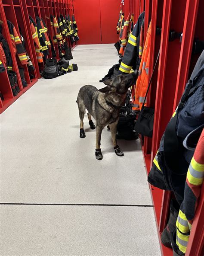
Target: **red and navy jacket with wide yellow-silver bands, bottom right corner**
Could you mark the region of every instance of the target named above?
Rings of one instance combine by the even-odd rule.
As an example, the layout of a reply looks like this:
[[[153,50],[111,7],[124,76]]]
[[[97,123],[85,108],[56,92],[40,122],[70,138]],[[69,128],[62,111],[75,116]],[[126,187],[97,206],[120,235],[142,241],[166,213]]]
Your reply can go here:
[[[195,131],[196,132],[196,131]],[[194,137],[192,132],[189,137]],[[189,138],[191,141],[192,138]],[[188,143],[187,143],[188,145]],[[190,145],[192,147],[192,145]],[[198,198],[201,194],[201,186],[204,181],[204,129],[199,138],[194,156],[189,165],[185,181],[184,199],[176,221],[176,244],[182,253],[186,252],[189,235],[195,217]]]

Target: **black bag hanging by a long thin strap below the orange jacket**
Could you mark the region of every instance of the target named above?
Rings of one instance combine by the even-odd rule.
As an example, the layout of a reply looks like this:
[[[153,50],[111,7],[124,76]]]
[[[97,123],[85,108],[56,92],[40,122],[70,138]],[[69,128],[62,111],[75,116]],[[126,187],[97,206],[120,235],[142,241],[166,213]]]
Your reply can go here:
[[[157,56],[157,60],[155,63],[155,67],[158,63],[158,59],[159,59],[159,54],[160,54],[160,50]],[[151,78],[149,80],[149,84],[148,84],[148,88],[147,88],[147,92],[145,95],[145,99],[144,102],[142,104],[142,109],[139,113],[138,119],[136,121],[135,124],[135,131],[141,135],[147,136],[152,138],[153,135],[153,126],[154,126],[154,116],[155,116],[155,109],[153,108],[149,108],[149,107],[145,107],[145,101],[147,98],[147,94],[151,85],[151,81],[152,81],[152,77],[155,71],[155,67],[153,69],[153,72],[151,74]]]

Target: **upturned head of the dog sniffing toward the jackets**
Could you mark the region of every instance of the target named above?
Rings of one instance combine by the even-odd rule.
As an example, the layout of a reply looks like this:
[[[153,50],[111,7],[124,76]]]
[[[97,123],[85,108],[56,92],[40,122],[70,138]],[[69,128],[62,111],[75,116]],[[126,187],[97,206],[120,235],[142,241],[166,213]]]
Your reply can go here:
[[[136,83],[137,77],[137,70],[127,75],[118,75],[113,80],[105,80],[103,83],[105,83],[107,86],[99,91],[102,93],[127,93],[128,88]]]

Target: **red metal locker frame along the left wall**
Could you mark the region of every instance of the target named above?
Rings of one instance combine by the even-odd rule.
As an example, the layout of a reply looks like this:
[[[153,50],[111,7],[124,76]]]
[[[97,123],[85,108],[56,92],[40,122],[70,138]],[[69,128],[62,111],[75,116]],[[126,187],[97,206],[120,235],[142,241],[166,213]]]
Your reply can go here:
[[[12,60],[13,60],[13,70],[17,73],[18,85],[20,88],[20,93],[17,96],[13,96],[12,90],[9,83],[9,78],[7,72],[3,72],[0,74],[0,91],[3,93],[4,100],[0,99],[0,114],[7,109],[16,99],[18,99],[23,93],[25,93],[31,86],[33,86],[38,78],[40,78],[40,70],[43,70],[44,64],[38,64],[36,52],[34,48],[34,42],[31,33],[31,26],[29,22],[29,15],[35,20],[35,16],[39,16],[43,18],[46,22],[47,28],[49,30],[50,40],[53,42],[53,34],[51,30],[50,24],[50,15],[59,16],[62,14],[65,15],[73,15],[74,14],[74,6],[73,0],[0,0],[0,20],[3,21],[3,35],[8,42]],[[12,51],[12,42],[9,35],[9,29],[7,26],[6,19],[10,20],[17,32],[19,33],[19,26],[21,27],[23,36],[25,38],[25,48],[28,52],[28,55],[35,67],[35,70],[32,73],[33,79],[31,80],[28,72],[27,65],[23,65],[25,71],[25,79],[28,83],[28,86],[23,88],[22,82],[20,79],[18,66],[22,67],[22,64],[19,62],[19,59],[16,58],[14,52]],[[70,38],[66,38],[66,42],[69,47],[74,48],[77,44],[74,43],[71,45]],[[54,45],[54,43],[53,43]],[[57,59],[59,59],[59,50],[57,45],[54,45]],[[52,57],[51,49],[49,49],[49,58]],[[3,57],[0,55],[0,58]]]

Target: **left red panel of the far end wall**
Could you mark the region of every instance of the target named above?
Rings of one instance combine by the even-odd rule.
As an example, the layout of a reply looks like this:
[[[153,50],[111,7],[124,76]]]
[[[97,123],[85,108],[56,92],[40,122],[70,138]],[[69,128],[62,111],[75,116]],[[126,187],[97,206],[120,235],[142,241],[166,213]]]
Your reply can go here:
[[[74,0],[74,16],[79,29],[79,44],[101,44],[100,0]]]

